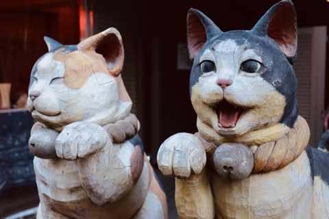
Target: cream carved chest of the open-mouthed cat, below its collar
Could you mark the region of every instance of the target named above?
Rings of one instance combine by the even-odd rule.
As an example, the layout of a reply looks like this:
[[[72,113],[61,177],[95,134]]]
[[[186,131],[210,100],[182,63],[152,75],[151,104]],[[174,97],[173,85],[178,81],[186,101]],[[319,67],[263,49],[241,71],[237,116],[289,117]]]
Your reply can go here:
[[[211,177],[219,218],[310,218],[312,178],[304,151],[281,170],[242,181]]]

